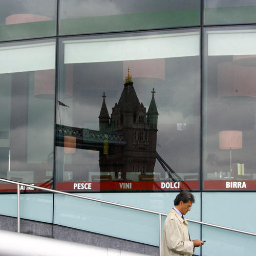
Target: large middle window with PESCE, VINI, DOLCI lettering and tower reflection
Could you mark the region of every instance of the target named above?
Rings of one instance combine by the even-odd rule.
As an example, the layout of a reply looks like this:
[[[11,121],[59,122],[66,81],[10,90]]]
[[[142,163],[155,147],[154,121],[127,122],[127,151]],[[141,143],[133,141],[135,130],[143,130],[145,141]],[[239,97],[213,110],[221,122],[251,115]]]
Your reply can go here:
[[[57,189],[199,189],[199,45],[194,29],[61,39]]]

